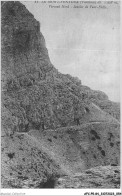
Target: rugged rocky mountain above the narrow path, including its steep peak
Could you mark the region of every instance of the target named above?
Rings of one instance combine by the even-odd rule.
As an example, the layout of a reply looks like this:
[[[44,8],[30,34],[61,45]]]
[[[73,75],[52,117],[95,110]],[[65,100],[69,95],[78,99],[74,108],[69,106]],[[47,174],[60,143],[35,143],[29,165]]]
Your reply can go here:
[[[92,102],[100,106],[108,100],[105,93],[54,68],[39,22],[16,1],[2,4],[2,86],[4,106],[21,122],[20,131],[26,124],[28,129],[47,129],[114,120],[100,108],[92,111]]]

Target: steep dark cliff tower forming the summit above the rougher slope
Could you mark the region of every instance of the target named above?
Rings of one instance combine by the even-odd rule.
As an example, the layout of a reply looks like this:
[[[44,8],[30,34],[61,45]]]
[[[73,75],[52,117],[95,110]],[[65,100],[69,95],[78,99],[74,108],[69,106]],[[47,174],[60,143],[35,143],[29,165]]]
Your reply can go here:
[[[2,4],[2,53],[3,70],[12,83],[22,83],[21,77],[27,83],[32,77],[42,80],[52,69],[40,24],[20,2]]]

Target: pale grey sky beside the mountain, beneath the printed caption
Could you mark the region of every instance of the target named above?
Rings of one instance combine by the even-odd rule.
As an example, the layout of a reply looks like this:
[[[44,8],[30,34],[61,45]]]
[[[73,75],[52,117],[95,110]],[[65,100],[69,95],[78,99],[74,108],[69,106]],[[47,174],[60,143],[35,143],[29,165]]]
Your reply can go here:
[[[110,100],[120,101],[119,3],[107,5],[106,9],[73,8],[74,4],[69,8],[49,8],[62,4],[22,3],[41,23],[40,31],[56,68],[79,77],[83,85],[105,92]]]

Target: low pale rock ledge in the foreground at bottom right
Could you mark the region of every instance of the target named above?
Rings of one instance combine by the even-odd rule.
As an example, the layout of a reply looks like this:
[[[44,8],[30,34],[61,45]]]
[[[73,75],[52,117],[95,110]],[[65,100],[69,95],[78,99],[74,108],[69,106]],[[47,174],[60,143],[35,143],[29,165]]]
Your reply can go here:
[[[107,186],[106,186],[107,185]],[[81,173],[79,176],[62,177],[56,182],[56,188],[120,188],[120,168],[99,166]]]

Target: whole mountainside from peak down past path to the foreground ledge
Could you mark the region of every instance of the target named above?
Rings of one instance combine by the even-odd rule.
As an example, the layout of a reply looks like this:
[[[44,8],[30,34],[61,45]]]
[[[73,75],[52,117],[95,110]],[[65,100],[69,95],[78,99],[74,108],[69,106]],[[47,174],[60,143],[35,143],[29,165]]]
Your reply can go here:
[[[58,72],[23,4],[2,2],[1,21],[3,187],[119,165],[119,104]]]

